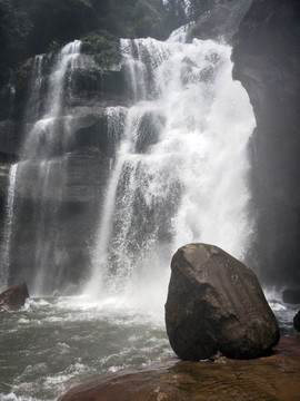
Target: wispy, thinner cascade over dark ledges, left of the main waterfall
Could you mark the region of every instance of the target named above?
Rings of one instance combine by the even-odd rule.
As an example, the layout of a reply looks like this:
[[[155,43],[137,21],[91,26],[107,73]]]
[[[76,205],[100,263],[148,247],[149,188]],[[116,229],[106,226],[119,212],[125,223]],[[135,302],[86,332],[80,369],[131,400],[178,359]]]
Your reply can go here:
[[[76,40],[52,57],[37,56],[32,66],[24,141],[16,175],[19,184],[10,189],[18,196],[14,211],[18,224],[10,224],[11,234],[6,234],[6,242],[9,243],[11,237],[17,248],[19,242],[27,243],[28,250],[21,248],[23,267],[16,260],[18,272],[12,275],[27,277],[33,295],[51,295],[63,275],[61,265],[67,257],[62,225],[68,182],[66,148],[71,139],[73,118],[68,114],[68,106],[72,101],[73,72],[81,67],[80,46],[81,42]]]

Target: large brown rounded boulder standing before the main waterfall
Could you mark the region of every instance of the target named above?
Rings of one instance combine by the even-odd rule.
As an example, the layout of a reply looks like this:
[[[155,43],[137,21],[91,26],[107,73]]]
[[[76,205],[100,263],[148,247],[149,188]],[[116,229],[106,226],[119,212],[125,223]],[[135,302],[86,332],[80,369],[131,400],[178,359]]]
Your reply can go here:
[[[182,360],[251,359],[279,341],[277,320],[254,273],[217,246],[189,244],[174,254],[166,303],[170,344]]]

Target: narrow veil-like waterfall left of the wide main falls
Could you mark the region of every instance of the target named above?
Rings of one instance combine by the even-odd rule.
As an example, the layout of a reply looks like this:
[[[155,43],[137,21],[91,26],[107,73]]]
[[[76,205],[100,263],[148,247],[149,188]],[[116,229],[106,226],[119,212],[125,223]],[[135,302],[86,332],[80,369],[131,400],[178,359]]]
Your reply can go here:
[[[36,163],[37,182],[32,190],[36,203],[34,222],[34,265],[36,276],[32,282],[33,294],[52,293],[61,281],[60,264],[64,257],[62,245],[60,206],[64,198],[67,183],[68,159],[63,155],[70,136],[70,119],[64,116],[64,105],[72,96],[72,74],[80,62],[81,42],[76,40],[66,45],[57,56],[51,69],[47,96],[44,97],[44,113],[33,123],[23,144],[22,176],[30,177],[31,160]],[[31,98],[40,92],[41,59],[33,68],[34,85]],[[27,173],[28,170],[28,173]],[[24,179],[26,182],[26,179]]]

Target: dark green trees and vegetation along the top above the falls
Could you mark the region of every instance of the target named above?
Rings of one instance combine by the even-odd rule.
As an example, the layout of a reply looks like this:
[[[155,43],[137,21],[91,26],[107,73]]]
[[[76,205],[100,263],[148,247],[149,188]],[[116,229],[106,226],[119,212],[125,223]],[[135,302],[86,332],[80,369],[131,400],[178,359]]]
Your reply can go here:
[[[118,59],[116,40],[100,30],[118,38],[166,39],[219,2],[190,0],[187,9],[186,0],[0,0],[0,85],[26,59],[84,36],[98,62],[109,63]]]

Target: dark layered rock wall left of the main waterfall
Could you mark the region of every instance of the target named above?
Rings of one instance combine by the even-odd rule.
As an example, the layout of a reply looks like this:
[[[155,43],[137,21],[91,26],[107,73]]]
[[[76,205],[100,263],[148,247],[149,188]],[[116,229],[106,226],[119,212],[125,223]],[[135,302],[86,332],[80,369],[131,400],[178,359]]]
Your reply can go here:
[[[52,116],[56,129],[40,147],[28,138],[37,123],[43,125],[48,118],[54,88],[50,76],[61,50],[27,60],[0,91],[0,217],[4,224],[10,166],[19,162],[11,194],[9,285],[27,277],[28,287],[34,288],[46,266],[51,272],[44,280],[48,295],[68,293],[67,287],[77,287],[86,278],[98,224],[94,216],[122,133],[121,124],[113,133],[109,128],[108,110],[126,118],[129,102],[119,39],[98,31],[82,40],[80,62],[67,63],[60,82],[64,90],[59,113]],[[38,131],[32,135],[37,143],[44,135],[43,129]],[[2,242],[4,224],[0,225]]]

